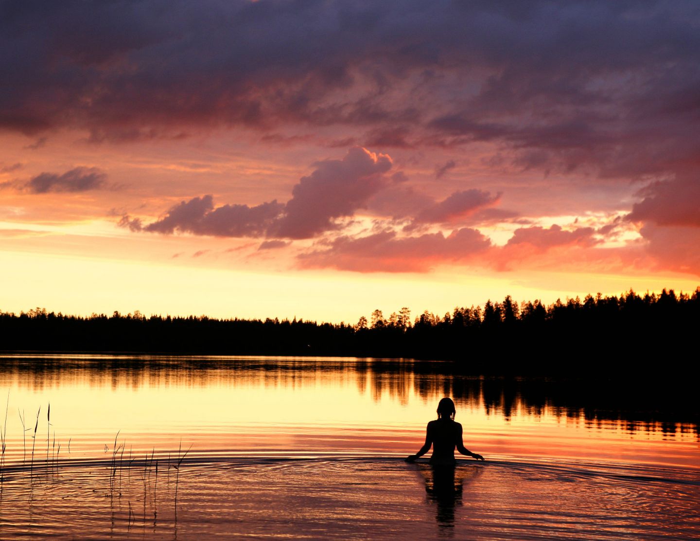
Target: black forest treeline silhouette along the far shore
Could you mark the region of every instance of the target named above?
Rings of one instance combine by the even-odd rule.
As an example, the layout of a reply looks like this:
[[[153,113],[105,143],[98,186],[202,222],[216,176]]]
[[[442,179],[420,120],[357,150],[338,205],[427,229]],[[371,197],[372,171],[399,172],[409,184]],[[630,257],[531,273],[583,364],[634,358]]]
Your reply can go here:
[[[506,296],[483,308],[458,307],[442,316],[426,311],[413,320],[408,308],[388,318],[374,310],[357,324],[146,317],[139,311],[79,317],[36,308],[0,313],[0,349],[449,359],[479,374],[668,371],[696,364],[699,324],[700,287],[692,294],[630,290],[549,306]]]

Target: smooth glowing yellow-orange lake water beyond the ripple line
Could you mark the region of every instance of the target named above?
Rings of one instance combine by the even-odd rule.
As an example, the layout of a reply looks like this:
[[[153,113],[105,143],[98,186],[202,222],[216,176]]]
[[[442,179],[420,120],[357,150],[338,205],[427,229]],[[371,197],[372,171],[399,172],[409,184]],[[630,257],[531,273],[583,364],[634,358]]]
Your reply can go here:
[[[492,460],[700,467],[692,423],[625,417],[546,382],[440,374],[439,363],[15,355],[2,366],[10,462],[27,460],[40,407],[29,444],[45,455],[57,441],[61,458],[105,456],[117,433],[134,453],[172,452],[182,441],[193,456],[405,456],[447,395],[465,445]]]

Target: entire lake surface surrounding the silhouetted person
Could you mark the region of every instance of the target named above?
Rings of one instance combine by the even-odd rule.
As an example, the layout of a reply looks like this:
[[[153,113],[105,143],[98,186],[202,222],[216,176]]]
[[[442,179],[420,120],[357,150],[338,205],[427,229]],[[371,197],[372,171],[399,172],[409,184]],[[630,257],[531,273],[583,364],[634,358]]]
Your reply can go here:
[[[3,539],[700,538],[697,409],[672,390],[109,355],[4,356],[0,381]],[[401,460],[443,396],[486,463]]]

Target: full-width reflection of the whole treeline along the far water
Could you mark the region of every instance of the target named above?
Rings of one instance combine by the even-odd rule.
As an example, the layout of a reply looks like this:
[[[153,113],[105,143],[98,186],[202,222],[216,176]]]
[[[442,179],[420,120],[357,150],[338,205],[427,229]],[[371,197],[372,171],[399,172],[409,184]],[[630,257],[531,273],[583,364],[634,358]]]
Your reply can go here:
[[[96,388],[313,388],[343,385],[368,390],[375,401],[387,395],[408,404],[413,395],[427,402],[451,396],[463,406],[510,420],[514,413],[545,413],[583,418],[587,427],[613,422],[624,430],[673,435],[695,432],[698,404],[692,381],[646,379],[474,377],[459,374],[447,362],[340,358],[225,357],[6,357],[0,376],[31,390],[60,385]]]

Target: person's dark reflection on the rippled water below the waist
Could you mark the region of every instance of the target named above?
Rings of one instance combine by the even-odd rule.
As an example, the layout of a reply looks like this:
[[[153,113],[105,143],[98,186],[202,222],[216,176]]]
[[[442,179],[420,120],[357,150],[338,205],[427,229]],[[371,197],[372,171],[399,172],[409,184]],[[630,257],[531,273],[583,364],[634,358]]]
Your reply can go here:
[[[413,464],[416,472],[426,484],[427,501],[435,505],[435,520],[440,528],[440,535],[454,535],[455,513],[462,506],[464,485],[479,477],[482,467],[435,466]]]

